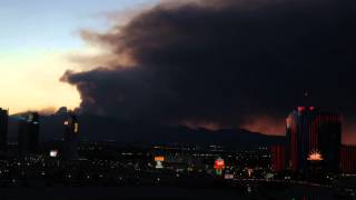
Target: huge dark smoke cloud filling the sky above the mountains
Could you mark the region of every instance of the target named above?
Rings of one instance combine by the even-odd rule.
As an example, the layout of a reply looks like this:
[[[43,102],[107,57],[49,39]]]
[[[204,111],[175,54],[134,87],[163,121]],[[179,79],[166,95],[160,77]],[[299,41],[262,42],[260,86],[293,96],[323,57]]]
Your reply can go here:
[[[313,104],[343,112],[344,141],[356,142],[355,10],[353,0],[157,6],[83,32],[134,64],[68,71],[63,81],[77,86],[83,112],[266,133],[283,133],[288,112]]]

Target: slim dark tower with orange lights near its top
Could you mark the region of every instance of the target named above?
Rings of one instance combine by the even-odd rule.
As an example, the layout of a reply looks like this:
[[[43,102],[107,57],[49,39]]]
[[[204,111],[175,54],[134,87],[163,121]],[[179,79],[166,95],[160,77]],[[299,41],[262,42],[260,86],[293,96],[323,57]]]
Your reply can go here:
[[[79,121],[76,114],[68,113],[68,118],[63,122],[65,126],[65,149],[63,158],[66,160],[76,160],[78,156],[79,144]]]

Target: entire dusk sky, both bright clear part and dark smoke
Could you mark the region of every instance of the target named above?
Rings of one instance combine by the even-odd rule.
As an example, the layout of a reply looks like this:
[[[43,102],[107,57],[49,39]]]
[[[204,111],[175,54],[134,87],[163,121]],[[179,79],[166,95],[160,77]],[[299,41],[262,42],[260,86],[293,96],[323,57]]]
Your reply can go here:
[[[355,2],[177,2],[1,0],[0,106],[283,134],[310,104],[356,143]]]

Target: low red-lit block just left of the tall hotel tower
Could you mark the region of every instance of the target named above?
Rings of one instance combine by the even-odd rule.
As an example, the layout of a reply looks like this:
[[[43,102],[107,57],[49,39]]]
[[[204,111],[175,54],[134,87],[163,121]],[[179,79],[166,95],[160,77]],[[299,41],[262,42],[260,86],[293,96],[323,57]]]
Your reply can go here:
[[[274,172],[285,170],[286,152],[284,146],[273,146],[269,148],[270,151],[270,168]]]

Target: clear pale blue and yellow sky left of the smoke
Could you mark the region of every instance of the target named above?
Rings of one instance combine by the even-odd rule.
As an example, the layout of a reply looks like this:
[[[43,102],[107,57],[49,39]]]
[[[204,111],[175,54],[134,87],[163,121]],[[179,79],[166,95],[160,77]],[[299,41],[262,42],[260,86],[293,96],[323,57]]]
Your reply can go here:
[[[59,81],[78,68],[69,54],[90,53],[81,29],[106,30],[110,13],[123,13],[155,0],[1,0],[0,106],[11,113],[29,109],[78,107],[75,87]]]

